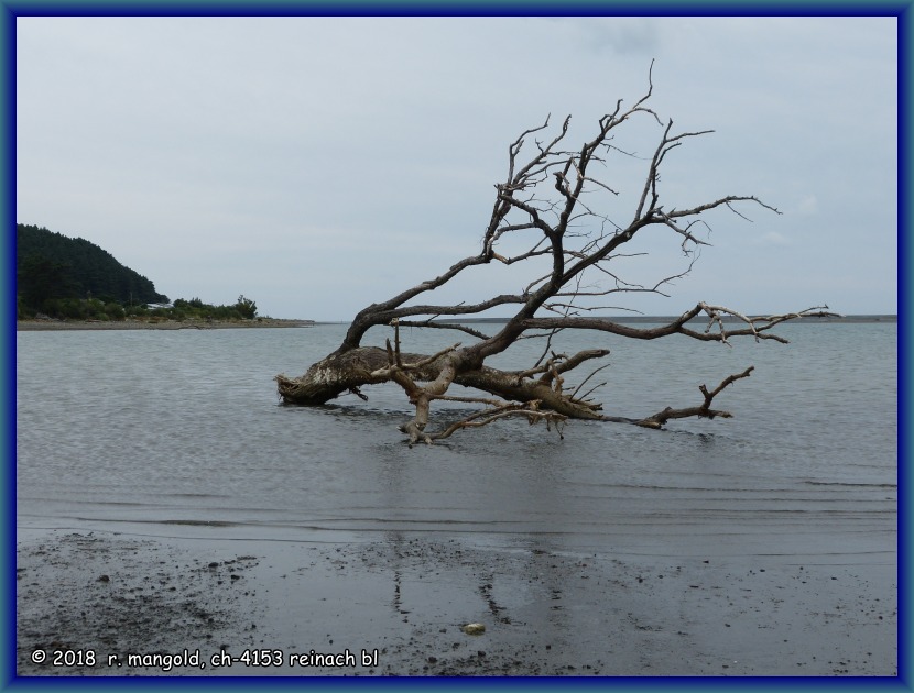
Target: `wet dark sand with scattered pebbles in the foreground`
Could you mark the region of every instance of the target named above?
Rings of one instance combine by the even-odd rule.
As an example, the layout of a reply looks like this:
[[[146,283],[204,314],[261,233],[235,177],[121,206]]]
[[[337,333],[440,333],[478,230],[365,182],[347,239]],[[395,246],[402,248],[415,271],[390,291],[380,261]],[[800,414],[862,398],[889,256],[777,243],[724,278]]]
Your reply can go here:
[[[264,541],[184,529],[163,538],[20,527],[18,673],[897,673],[896,566],[884,558],[610,556],[442,532]],[[472,623],[485,632],[464,632]]]

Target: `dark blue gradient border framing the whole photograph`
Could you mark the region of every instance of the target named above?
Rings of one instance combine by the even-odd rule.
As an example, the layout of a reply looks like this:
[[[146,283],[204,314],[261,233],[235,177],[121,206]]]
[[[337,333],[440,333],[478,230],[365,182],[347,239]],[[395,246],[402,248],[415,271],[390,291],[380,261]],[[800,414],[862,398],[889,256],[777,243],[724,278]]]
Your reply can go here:
[[[3,165],[4,184],[0,195],[2,202],[0,210],[3,215],[3,226],[7,232],[0,245],[0,258],[3,262],[2,301],[0,301],[0,319],[4,326],[6,338],[2,350],[2,375],[0,384],[8,394],[4,398],[9,410],[2,417],[3,448],[8,453],[8,463],[3,466],[2,482],[0,482],[0,688],[22,688],[40,690],[51,685],[48,679],[17,679],[15,678],[15,413],[13,402],[15,393],[15,18],[21,15],[842,15],[842,16],[896,16],[899,19],[899,675],[884,679],[537,679],[537,680],[501,680],[498,683],[491,680],[409,680],[395,679],[392,682],[371,679],[359,682],[347,680],[289,680],[246,678],[237,680],[225,679],[193,679],[183,678],[177,685],[196,688],[198,685],[214,685],[239,689],[263,688],[264,685],[283,688],[308,689],[338,689],[353,685],[388,685],[399,688],[416,688],[433,685],[435,688],[451,688],[456,685],[474,688],[503,688],[504,685],[522,685],[525,689],[551,689],[575,685],[580,688],[612,688],[651,689],[651,688],[774,688],[784,685],[802,685],[803,688],[840,688],[845,690],[870,690],[872,688],[892,688],[911,690],[911,606],[906,592],[911,578],[910,561],[912,556],[911,509],[905,501],[910,498],[910,479],[906,461],[910,458],[911,443],[907,431],[914,425],[907,403],[911,392],[911,373],[906,362],[908,345],[911,344],[911,324],[908,319],[911,279],[905,268],[911,266],[911,204],[914,198],[914,186],[911,184],[910,157],[910,125],[911,125],[911,70],[912,57],[910,37],[914,29],[914,0],[875,0],[873,2],[828,2],[825,0],[806,0],[803,3],[790,0],[754,0],[739,3],[735,7],[725,2],[672,2],[670,0],[570,0],[556,3],[555,0],[525,1],[501,0],[500,2],[485,2],[485,0],[446,2],[421,1],[371,1],[371,0],[266,0],[265,2],[225,2],[220,0],[0,0],[0,120],[2,122],[2,138],[0,138],[0,157]],[[123,679],[89,680],[53,680],[54,688],[110,688],[122,685]],[[131,679],[131,686],[163,686],[173,688],[174,680],[166,679]]]

